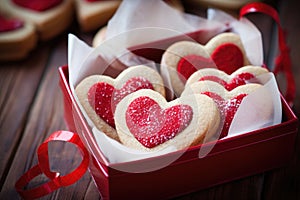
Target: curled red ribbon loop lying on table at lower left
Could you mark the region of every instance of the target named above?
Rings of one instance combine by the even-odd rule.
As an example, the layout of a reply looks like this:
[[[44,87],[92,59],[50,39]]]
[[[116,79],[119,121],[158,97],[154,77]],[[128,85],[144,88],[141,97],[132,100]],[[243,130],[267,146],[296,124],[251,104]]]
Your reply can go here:
[[[71,173],[60,176],[58,172],[52,172],[49,165],[48,143],[52,141],[63,141],[75,144],[81,152],[82,161]],[[81,142],[79,136],[69,131],[57,131],[50,135],[37,150],[38,164],[22,175],[15,184],[17,192],[24,199],[34,199],[45,196],[60,187],[77,182],[87,171],[89,165],[89,153]],[[49,181],[38,187],[25,190],[24,187],[35,177],[45,174]]]

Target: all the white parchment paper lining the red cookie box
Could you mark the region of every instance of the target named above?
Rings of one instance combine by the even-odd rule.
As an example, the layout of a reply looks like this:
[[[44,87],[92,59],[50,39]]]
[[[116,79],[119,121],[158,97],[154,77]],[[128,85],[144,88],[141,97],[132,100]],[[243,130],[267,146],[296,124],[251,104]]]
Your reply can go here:
[[[121,9],[122,9],[122,5],[124,6],[124,4],[126,6],[129,6],[128,5],[129,3],[126,4],[125,2],[127,2],[127,0],[125,0],[121,4],[121,7],[120,7]],[[135,2],[135,1],[130,1],[130,3],[133,3],[133,2]],[[136,2],[137,3],[135,4],[135,6],[140,5],[140,4],[143,4],[143,6],[144,6],[145,2],[150,2],[150,1],[143,1],[143,3],[141,3],[141,1],[139,0]],[[156,1],[154,1],[154,2],[156,2]],[[160,1],[158,1],[158,2],[160,2]],[[156,6],[159,7],[162,5],[160,5],[160,3],[159,3],[158,5],[156,4]],[[146,7],[146,6],[144,6],[144,7]],[[147,8],[143,12],[146,13],[147,11],[149,12],[149,10],[151,10],[151,9]],[[175,11],[169,10],[169,8],[168,9],[156,9],[156,11],[158,11],[158,10],[161,10],[160,12],[164,12],[164,15],[163,15],[164,20],[162,20],[162,19],[155,20],[155,22],[159,22],[160,24],[159,24],[158,28],[161,28],[163,30],[164,27],[160,27],[160,26],[165,26],[166,24],[170,23],[169,18],[166,19],[166,17],[165,17],[165,16],[168,16],[167,11],[170,12],[170,15],[173,15],[174,14],[173,12],[175,12]],[[132,12],[132,10],[127,10],[127,12],[130,13],[130,12]],[[178,12],[178,11],[176,11],[176,12]],[[249,60],[251,60],[251,62],[255,63],[255,65],[262,65],[262,47],[261,47],[261,42],[259,42],[259,41],[261,41],[261,39],[258,38],[258,40],[257,40],[257,36],[260,37],[260,33],[259,33],[259,31],[256,30],[255,26],[253,26],[246,19],[242,19],[241,21],[235,20],[234,18],[228,16],[227,14],[223,13],[222,11],[210,10],[210,12],[211,12],[210,13],[211,19],[214,19],[215,21],[219,20],[219,22],[222,22],[222,23],[224,23],[224,20],[225,21],[227,20],[225,22],[226,26],[230,26],[232,31],[241,34],[246,51],[251,52],[253,50],[253,48],[255,49],[254,55],[252,55],[251,53],[249,53],[249,55],[247,54],[249,57]],[[117,14],[118,14],[118,12],[117,12]],[[153,14],[153,13],[151,13],[151,14]],[[125,14],[123,14],[123,15],[125,15]],[[182,16],[182,13],[177,13],[177,14],[175,14],[175,16],[176,15]],[[220,17],[220,15],[221,16],[224,15],[226,17],[224,17],[224,16]],[[146,16],[147,16],[147,14],[146,14]],[[152,15],[150,15],[150,16],[152,16]],[[196,23],[197,21],[203,21],[203,19],[199,20],[196,16],[187,16],[187,17],[183,17],[183,19],[181,20],[183,22],[183,24],[184,24],[184,22],[187,23],[184,19],[196,19],[193,22],[189,22],[188,23],[189,25],[197,24]],[[148,19],[145,19],[144,21],[147,21],[147,20]],[[127,22],[128,20],[123,18],[123,21]],[[164,21],[164,23],[162,23],[162,21]],[[115,23],[117,23],[117,22],[118,21],[116,21]],[[99,131],[95,128],[95,125],[89,119],[85,110],[82,108],[82,106],[80,105],[80,103],[77,99],[77,96],[74,92],[75,86],[83,78],[85,78],[89,75],[102,74],[105,70],[105,67],[107,66],[107,63],[109,64],[109,63],[113,62],[113,60],[115,58],[119,58],[124,55],[125,55],[124,57],[126,57],[126,55],[131,56],[130,53],[126,50],[127,47],[129,47],[128,45],[137,45],[137,44],[144,43],[144,42],[151,42],[156,39],[162,39],[162,37],[174,36],[174,35],[167,35],[167,36],[159,35],[158,37],[156,37],[156,36],[149,37],[149,36],[145,35],[145,38],[143,38],[143,35],[142,36],[140,35],[138,38],[142,38],[142,39],[134,40],[134,38],[137,37],[137,35],[134,36],[134,34],[133,34],[134,28],[136,28],[136,27],[132,27],[132,26],[128,27],[128,26],[126,26],[126,24],[125,25],[120,25],[120,24],[113,25],[113,24],[114,23],[112,20],[110,22],[111,26],[118,26],[118,27],[124,26],[125,27],[124,29],[126,29],[126,27],[127,27],[127,28],[133,28],[133,30],[127,30],[127,32],[123,31],[121,36],[116,35],[115,37],[108,39],[107,42],[104,42],[103,44],[101,44],[99,47],[97,47],[95,49],[89,47],[84,42],[80,41],[77,37],[75,37],[74,35],[71,35],[71,34],[69,35],[68,63],[69,63],[69,82],[70,82],[71,91],[73,92],[73,95],[74,95],[75,99],[77,100],[77,103],[78,103],[84,117],[87,119],[88,124],[92,128],[94,137],[98,143],[100,150],[104,153],[104,155],[106,156],[106,158],[108,159],[108,161],[110,163],[121,163],[121,162],[127,162],[127,161],[132,161],[132,160],[138,160],[141,158],[152,157],[152,156],[161,155],[161,154],[165,154],[165,153],[174,151],[174,150],[176,150],[174,147],[168,147],[168,148],[164,149],[163,151],[159,151],[159,152],[151,152],[151,153],[139,152],[136,150],[129,149],[129,148],[125,147],[124,145],[108,138],[104,133],[102,133],[101,131]],[[178,22],[176,22],[176,24],[178,24]],[[154,24],[153,26],[156,26],[156,24]],[[183,25],[183,27],[184,26],[186,26],[186,25]],[[252,30],[253,27],[255,29],[254,31]],[[138,28],[140,28],[140,27],[138,27]],[[168,28],[170,28],[170,27],[168,27]],[[202,28],[202,27],[197,26],[197,27],[194,27],[194,29],[188,29],[187,32],[197,30],[199,28]],[[215,31],[215,34],[217,34],[217,32],[219,32],[221,29],[224,30],[224,27],[219,27],[219,28],[220,29],[218,29],[218,31],[216,31],[216,29],[213,29],[213,31]],[[108,29],[110,29],[110,26],[108,27]],[[137,30],[141,30],[141,29],[137,29]],[[185,30],[185,29],[181,29],[181,30]],[[114,34],[118,34],[119,31],[116,31],[116,33],[114,33]],[[251,32],[251,34],[249,33],[249,31]],[[174,33],[176,35],[176,33],[179,33],[179,32],[175,31]],[[251,36],[252,33],[253,33],[253,36]],[[249,37],[242,36],[244,34],[248,34],[248,35],[250,34],[250,36]],[[134,37],[132,37],[132,36],[134,36]],[[114,40],[115,38],[119,38],[119,39]],[[254,40],[256,42],[253,42]],[[101,55],[101,56],[99,56],[99,55]],[[250,57],[252,57],[252,58],[250,59]],[[148,62],[148,61],[145,59],[137,58],[136,60],[133,60],[132,63],[129,62],[127,64],[137,65],[137,64],[145,64],[145,62]],[[151,62],[147,63],[147,65],[150,65],[150,66],[152,66],[154,64],[155,63],[151,63]],[[152,67],[154,67],[154,66],[152,66]],[[237,114],[232,122],[233,125],[230,128],[230,134],[228,137],[236,135],[236,134],[241,134],[245,131],[255,130],[257,128],[261,128],[261,127],[265,127],[265,126],[269,126],[269,125],[273,125],[273,124],[277,124],[277,123],[281,122],[281,103],[280,103],[279,92],[278,92],[278,89],[276,86],[276,81],[275,81],[274,77],[272,77],[272,75],[268,75],[268,76],[269,77],[263,79],[265,81],[265,86],[264,86],[265,89],[262,89],[262,92],[256,92],[256,93],[248,95],[247,98],[240,105],[240,110],[243,110],[243,111],[237,112]],[[271,78],[270,78],[270,76],[271,76]],[[268,91],[268,92],[265,92],[265,91]],[[274,98],[269,97],[269,96],[268,96],[268,98],[266,98],[265,95],[267,95],[267,94],[274,95]],[[258,96],[256,96],[256,95],[258,95]],[[246,120],[240,119],[240,118],[245,118],[244,115],[248,116],[248,112],[247,112],[247,110],[249,108],[248,104],[251,104],[252,108],[254,108],[253,106],[258,104],[258,103],[256,103],[255,105],[252,105],[251,102],[254,101],[253,99],[260,103],[263,100],[272,99],[273,101],[271,101],[271,102],[266,101],[266,102],[264,102],[264,104],[268,104],[268,105],[270,104],[271,106],[273,106],[275,113],[272,115],[272,119],[270,119],[270,120],[264,119],[263,124],[259,123],[257,126],[251,126],[250,128],[249,127],[245,128],[245,126],[247,124],[252,125],[253,122],[249,121],[249,120],[246,121]],[[259,109],[261,109],[261,108],[259,108]],[[241,116],[241,117],[239,117],[239,116]],[[259,116],[255,115],[254,118],[257,119],[259,122],[261,122],[261,120],[259,120]],[[249,117],[247,117],[247,119],[249,119]],[[206,153],[208,153],[208,152],[205,152],[204,154],[202,153],[201,157],[205,156]]]

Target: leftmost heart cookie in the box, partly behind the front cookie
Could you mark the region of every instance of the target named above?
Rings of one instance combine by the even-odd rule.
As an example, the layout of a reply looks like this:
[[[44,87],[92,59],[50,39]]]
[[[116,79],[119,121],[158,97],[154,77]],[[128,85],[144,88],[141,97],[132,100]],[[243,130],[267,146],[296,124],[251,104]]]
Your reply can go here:
[[[114,121],[115,108],[125,96],[140,89],[153,89],[165,96],[159,73],[144,65],[129,67],[116,79],[105,75],[89,76],[76,86],[75,92],[95,126],[118,140]]]

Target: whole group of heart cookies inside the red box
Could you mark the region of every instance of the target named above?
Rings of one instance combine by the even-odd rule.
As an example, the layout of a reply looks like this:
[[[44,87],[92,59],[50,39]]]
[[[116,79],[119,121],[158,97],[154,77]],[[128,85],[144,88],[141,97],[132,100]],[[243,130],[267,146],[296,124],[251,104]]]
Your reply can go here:
[[[176,42],[160,64],[177,94],[170,101],[158,70],[144,65],[130,66],[115,79],[89,76],[76,86],[80,104],[100,131],[141,151],[185,149],[226,137],[243,99],[262,87],[257,77],[268,73],[249,64],[233,33],[217,35],[205,46]]]

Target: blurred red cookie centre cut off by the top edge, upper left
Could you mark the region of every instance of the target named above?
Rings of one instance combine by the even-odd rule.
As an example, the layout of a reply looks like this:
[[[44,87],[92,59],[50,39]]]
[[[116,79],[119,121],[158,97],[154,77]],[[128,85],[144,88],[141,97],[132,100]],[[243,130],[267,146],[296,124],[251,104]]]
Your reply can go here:
[[[42,12],[54,8],[63,0],[12,0],[15,4],[30,10]]]

